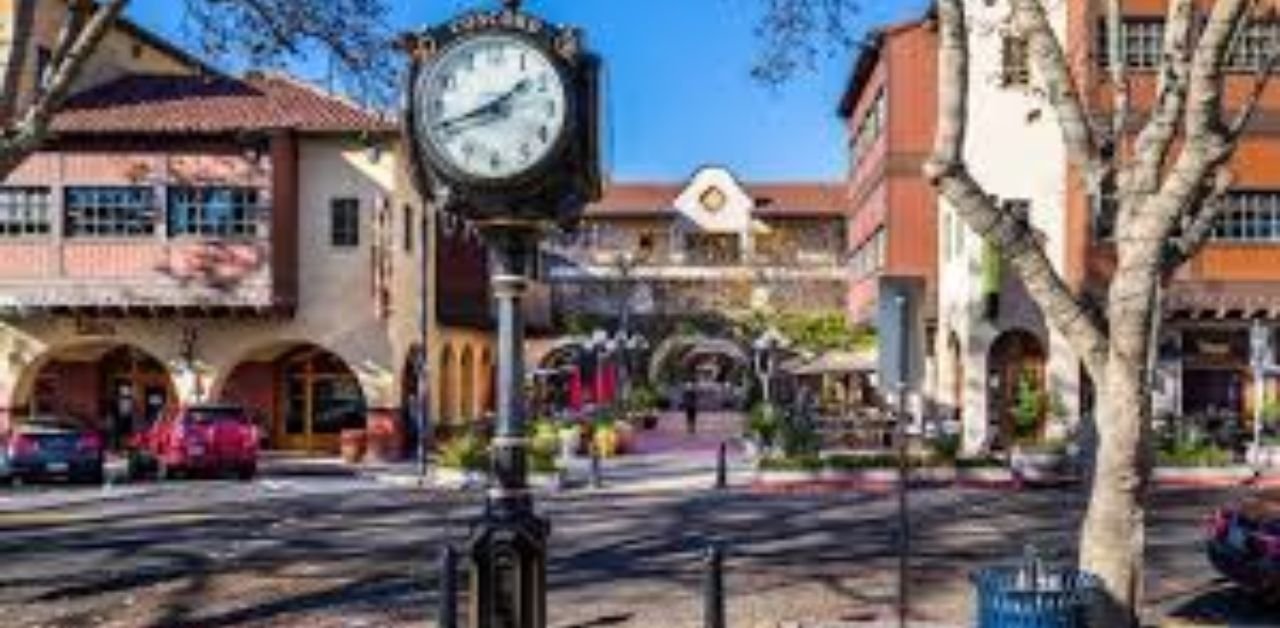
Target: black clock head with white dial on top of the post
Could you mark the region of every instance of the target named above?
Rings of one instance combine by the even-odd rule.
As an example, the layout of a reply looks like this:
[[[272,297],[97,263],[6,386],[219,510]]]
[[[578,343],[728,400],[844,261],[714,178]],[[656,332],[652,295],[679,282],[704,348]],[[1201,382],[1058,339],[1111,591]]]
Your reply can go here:
[[[413,175],[484,224],[572,224],[600,197],[599,60],[577,29],[508,6],[406,38]]]

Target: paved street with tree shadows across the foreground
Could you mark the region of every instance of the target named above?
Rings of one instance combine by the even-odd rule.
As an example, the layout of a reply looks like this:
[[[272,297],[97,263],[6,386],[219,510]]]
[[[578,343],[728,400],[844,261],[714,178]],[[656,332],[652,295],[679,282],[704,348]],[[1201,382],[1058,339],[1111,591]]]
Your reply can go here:
[[[95,489],[3,494],[5,625],[430,625],[436,551],[461,542],[476,512],[474,498],[364,478],[128,490],[128,499]],[[49,503],[51,491],[63,505]],[[1164,610],[1198,600],[1201,616],[1233,609],[1252,625],[1280,624],[1216,593],[1196,538],[1206,504],[1221,498],[1158,496],[1151,599]],[[554,522],[552,625],[695,625],[698,556],[710,540],[731,547],[731,625],[887,622],[891,496],[579,491],[541,503]],[[966,624],[965,574],[1033,541],[1069,550],[1078,505],[1057,491],[914,495],[916,615]]]

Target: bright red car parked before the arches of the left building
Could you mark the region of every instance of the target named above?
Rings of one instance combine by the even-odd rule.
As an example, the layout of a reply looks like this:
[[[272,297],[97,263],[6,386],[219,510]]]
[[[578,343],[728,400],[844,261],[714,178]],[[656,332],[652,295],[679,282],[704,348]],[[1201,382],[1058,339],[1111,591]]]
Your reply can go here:
[[[133,439],[129,476],[257,473],[259,428],[237,405],[189,405],[166,414]]]

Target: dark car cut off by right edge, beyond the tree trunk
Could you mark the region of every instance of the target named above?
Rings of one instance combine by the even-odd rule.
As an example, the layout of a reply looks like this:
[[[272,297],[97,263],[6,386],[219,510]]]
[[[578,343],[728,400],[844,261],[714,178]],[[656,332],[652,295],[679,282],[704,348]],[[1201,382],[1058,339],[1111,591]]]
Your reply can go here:
[[[1280,600],[1280,500],[1220,508],[1206,530],[1210,563],[1254,595]]]

